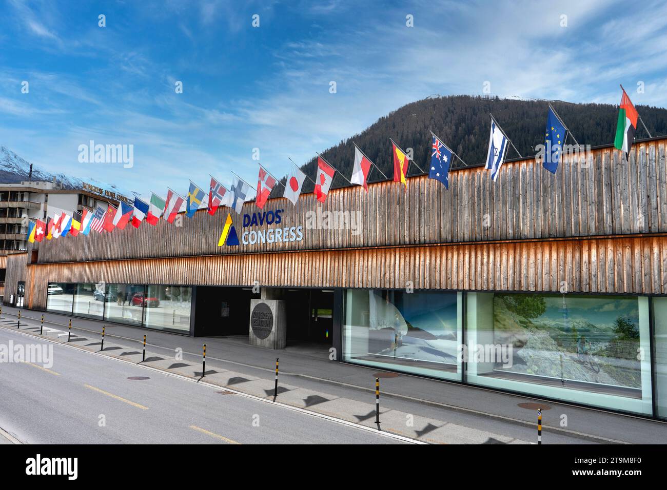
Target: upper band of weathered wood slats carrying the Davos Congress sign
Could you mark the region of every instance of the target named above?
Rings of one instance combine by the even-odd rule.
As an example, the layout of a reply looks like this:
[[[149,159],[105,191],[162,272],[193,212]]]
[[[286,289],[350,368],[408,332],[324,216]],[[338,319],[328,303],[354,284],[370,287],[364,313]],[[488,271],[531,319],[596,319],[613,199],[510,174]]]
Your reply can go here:
[[[566,155],[556,175],[534,158],[505,163],[494,183],[483,167],[452,171],[450,190],[426,176],[411,177],[408,191],[394,182],[335,189],[323,204],[302,195],[292,207],[287,199],[271,199],[264,211],[284,209],[283,221],[271,227],[306,225],[308,211],[361,211],[363,227],[304,229],[303,241],[217,247],[230,212],[211,217],[197,211],[182,226],[160,220],[87,236],[65,237],[39,244],[41,263],[187,255],[227,255],[414,245],[468,241],[588,237],[667,231],[667,139],[632,146],[629,161],[613,148],[596,149],[587,157]],[[257,213],[254,203],[243,213]],[[239,236],[241,216],[231,211]]]

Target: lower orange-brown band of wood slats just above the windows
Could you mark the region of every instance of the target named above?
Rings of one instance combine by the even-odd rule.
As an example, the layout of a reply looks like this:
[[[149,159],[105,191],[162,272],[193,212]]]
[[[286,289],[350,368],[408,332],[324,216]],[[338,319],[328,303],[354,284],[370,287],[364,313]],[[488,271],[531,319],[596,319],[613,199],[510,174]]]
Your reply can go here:
[[[23,259],[21,259],[23,257]],[[26,305],[45,308],[49,281],[263,287],[376,287],[468,291],[667,294],[667,237],[429,245],[25,265]],[[27,272],[26,272],[27,271]],[[13,289],[11,289],[13,288]],[[10,291],[11,289],[11,291]]]

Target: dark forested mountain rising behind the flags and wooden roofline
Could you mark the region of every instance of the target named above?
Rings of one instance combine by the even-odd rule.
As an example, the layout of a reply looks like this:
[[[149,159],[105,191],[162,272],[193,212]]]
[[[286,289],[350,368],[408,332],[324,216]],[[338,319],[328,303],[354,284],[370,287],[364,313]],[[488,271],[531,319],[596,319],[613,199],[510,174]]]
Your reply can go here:
[[[620,95],[619,95],[620,100]],[[618,105],[575,104],[552,102],[554,109],[563,119],[574,137],[581,145],[604,145],[614,143]],[[667,109],[637,105],[648,131],[652,136],[667,134]],[[366,155],[392,179],[394,167],[390,137],[407,151],[412,148],[414,161],[428,170],[433,131],[442,141],[452,148],[468,165],[479,165],[486,158],[488,149],[490,117],[492,113],[498,124],[512,139],[512,143],[524,156],[534,153],[534,146],[542,143],[546,125],[548,101],[500,99],[498,97],[470,97],[452,95],[430,97],[404,105],[400,109],[381,117],[376,123],[338,145],[321,152],[331,165],[350,179],[354,166],[354,145],[357,143]],[[641,123],[636,137],[648,137]],[[574,144],[568,138],[568,143]],[[510,147],[508,158],[518,157]],[[455,161],[454,167],[462,165]],[[303,165],[301,169],[315,178],[317,158]],[[410,165],[410,175],[421,172],[416,165]],[[370,181],[384,180],[376,170],[372,170]],[[284,182],[284,179],[283,179]],[[333,187],[350,185],[344,178],[337,176]],[[277,186],[275,195],[282,195],[283,189]],[[313,183],[306,179],[303,191],[313,190]]]

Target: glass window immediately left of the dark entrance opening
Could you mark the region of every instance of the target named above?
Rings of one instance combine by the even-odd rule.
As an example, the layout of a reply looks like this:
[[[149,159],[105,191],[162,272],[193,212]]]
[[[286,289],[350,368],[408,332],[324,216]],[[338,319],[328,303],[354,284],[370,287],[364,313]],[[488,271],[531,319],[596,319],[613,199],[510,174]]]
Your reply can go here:
[[[191,287],[147,286],[143,298],[143,325],[150,329],[189,332],[191,301]]]

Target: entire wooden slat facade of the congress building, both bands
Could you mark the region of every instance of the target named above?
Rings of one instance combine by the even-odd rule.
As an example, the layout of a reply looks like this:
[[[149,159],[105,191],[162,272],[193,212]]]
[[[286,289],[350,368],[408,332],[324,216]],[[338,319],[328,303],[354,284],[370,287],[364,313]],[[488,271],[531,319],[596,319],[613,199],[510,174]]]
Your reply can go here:
[[[556,175],[536,159],[505,163],[496,183],[482,167],[456,169],[450,189],[425,176],[313,194],[284,209],[280,225],[308,211],[360,211],[361,233],[304,229],[302,241],[217,247],[230,212],[197,211],[182,226],[91,232],[43,241],[37,263],[7,258],[7,293],[21,276],[27,307],[45,308],[47,283],[99,282],[274,287],[377,287],[469,291],[667,294],[667,138],[570,155]],[[246,203],[243,214],[261,212]],[[231,211],[239,238],[241,215]],[[23,257],[23,258],[21,258]],[[13,283],[13,284],[12,284]]]

